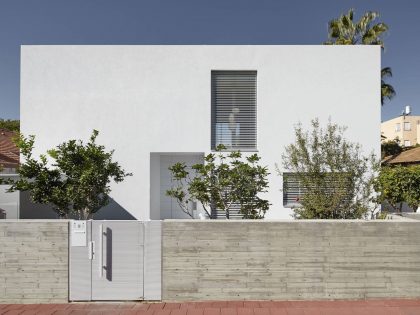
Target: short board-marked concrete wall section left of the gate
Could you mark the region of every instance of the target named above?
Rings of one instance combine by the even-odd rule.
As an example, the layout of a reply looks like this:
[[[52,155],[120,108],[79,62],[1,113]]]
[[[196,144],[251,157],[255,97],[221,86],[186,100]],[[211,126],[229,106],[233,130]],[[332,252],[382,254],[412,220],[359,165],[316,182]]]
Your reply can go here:
[[[0,303],[68,301],[68,221],[0,220]]]

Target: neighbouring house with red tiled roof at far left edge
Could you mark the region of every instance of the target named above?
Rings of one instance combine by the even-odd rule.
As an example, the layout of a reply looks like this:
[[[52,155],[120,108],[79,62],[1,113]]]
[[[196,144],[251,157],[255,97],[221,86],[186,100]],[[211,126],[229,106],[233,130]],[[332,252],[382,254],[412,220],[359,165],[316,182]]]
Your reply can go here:
[[[19,166],[19,149],[13,142],[16,133],[0,129],[0,178],[16,176]],[[8,185],[0,185],[0,219],[19,217],[19,193],[7,193]]]

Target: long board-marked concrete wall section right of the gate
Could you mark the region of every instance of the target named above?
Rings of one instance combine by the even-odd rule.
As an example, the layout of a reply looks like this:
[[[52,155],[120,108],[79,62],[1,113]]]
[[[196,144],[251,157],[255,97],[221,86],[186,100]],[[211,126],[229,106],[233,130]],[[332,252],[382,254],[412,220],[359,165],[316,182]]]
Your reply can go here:
[[[163,222],[162,299],[420,297],[419,221]]]

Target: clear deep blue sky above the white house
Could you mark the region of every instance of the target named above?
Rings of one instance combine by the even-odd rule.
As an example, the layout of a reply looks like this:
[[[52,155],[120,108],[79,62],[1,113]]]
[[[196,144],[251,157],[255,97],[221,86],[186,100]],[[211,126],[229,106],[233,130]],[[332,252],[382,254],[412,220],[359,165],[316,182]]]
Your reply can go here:
[[[0,117],[19,118],[20,45],[315,45],[349,8],[357,18],[378,11],[390,27],[382,66],[392,67],[397,96],[382,119],[405,105],[420,115],[417,0],[0,0]]]

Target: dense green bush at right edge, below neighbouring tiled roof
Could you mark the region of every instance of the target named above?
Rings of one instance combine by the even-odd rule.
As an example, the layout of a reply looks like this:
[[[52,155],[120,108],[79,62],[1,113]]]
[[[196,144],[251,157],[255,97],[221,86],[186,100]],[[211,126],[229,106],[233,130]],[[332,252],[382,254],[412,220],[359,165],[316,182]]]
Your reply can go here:
[[[388,202],[401,212],[403,202],[417,210],[420,205],[420,165],[384,166],[374,182],[377,202]]]

